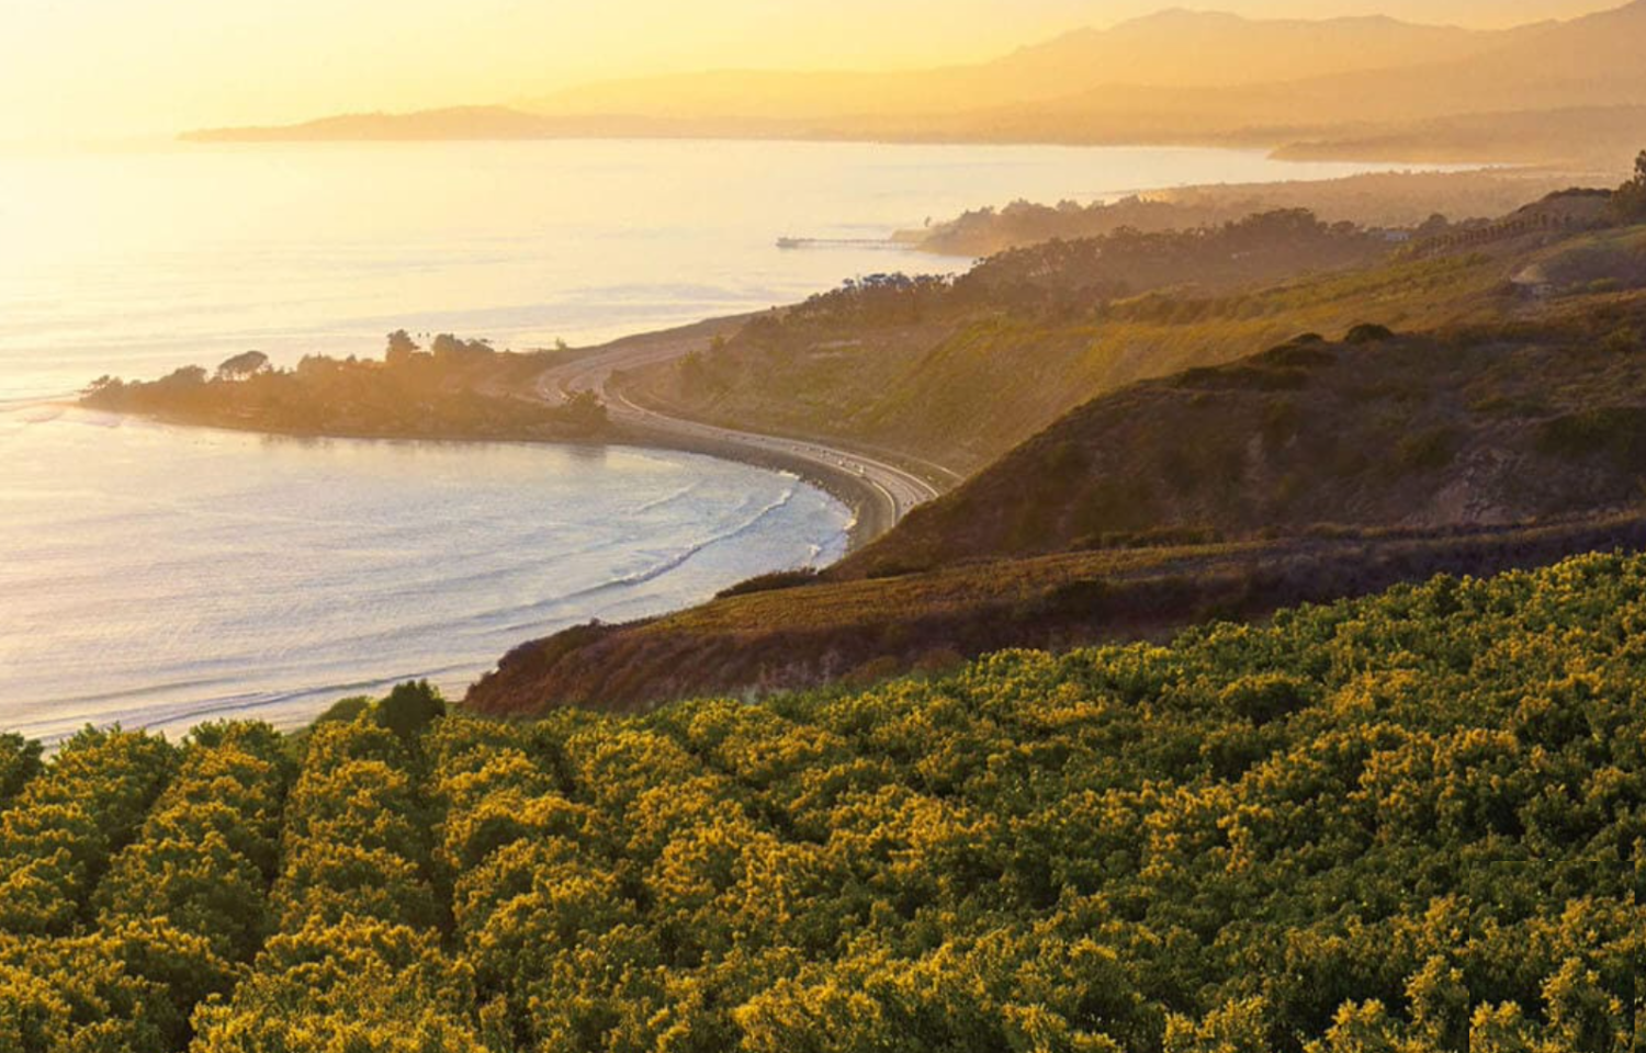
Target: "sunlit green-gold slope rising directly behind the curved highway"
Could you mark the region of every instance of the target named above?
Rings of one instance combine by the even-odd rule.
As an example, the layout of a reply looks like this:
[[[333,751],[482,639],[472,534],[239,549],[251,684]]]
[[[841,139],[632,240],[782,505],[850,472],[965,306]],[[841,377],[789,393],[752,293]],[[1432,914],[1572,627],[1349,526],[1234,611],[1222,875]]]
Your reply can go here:
[[[1547,304],[1511,280],[1588,237],[1532,234],[1355,270],[1286,252],[1151,265],[1154,240],[1123,257],[1136,267],[1121,267],[1109,240],[1086,268],[1076,257],[1091,242],[1050,244],[994,257],[948,295],[858,288],[818,298],[624,383],[685,416],[884,446],[971,472],[1098,395],[1300,332],[1536,318]],[[1310,268],[1327,270],[1292,276]],[[1159,288],[1174,276],[1174,288]]]

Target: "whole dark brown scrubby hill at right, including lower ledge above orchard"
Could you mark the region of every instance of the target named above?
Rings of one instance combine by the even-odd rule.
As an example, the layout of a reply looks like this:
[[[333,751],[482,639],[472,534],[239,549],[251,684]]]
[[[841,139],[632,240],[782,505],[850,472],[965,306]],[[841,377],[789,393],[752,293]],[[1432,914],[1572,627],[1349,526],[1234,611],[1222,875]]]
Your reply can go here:
[[[874,681],[1643,545],[1646,229],[1488,248],[1241,301],[1294,326],[1322,290],[1343,314],[1452,319],[1338,341],[1294,329],[1246,354],[1197,329],[1183,346],[1211,365],[1078,405],[821,578],[523,645],[467,701],[645,709]],[[1024,372],[1063,390],[1057,369]],[[937,401],[951,395],[928,377]]]

